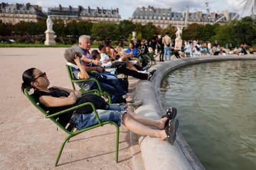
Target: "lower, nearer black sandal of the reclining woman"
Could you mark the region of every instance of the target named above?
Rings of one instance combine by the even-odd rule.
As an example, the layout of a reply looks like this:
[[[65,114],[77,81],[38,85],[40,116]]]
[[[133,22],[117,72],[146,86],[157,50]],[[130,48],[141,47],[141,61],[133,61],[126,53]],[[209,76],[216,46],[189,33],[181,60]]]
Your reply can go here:
[[[164,131],[167,135],[167,140],[171,145],[173,145],[176,140],[176,132],[178,127],[179,127],[179,120],[171,119],[169,120],[168,126],[164,128]]]

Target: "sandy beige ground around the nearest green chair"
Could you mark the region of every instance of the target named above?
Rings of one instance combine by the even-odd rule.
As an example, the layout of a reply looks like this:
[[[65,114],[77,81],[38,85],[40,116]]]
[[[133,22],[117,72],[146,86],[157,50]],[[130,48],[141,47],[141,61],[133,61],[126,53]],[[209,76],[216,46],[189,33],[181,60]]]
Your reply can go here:
[[[51,86],[71,88],[65,49],[0,48],[0,169],[54,168],[66,134],[29,102],[20,84],[23,71],[35,67],[47,73]],[[129,131],[121,126],[119,163],[114,161],[115,132],[107,125],[72,138],[57,169],[132,169]]]

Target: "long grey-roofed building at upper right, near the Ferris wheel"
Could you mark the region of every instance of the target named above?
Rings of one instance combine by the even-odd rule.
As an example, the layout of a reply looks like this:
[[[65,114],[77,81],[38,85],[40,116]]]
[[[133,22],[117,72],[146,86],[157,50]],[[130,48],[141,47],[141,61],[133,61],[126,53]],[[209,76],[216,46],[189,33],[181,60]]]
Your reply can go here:
[[[154,8],[152,6],[137,7],[135,9],[132,18],[129,18],[134,23],[141,23],[145,25],[146,23],[153,23],[155,26],[160,26],[161,28],[166,28],[168,25],[173,26],[187,26],[191,23],[198,24],[213,24],[216,21],[218,23],[226,23],[231,18],[234,17],[236,13],[228,13],[228,11],[221,12],[217,14],[212,12],[211,14],[203,14],[203,12],[189,12],[188,9],[184,12],[173,12],[170,8]]]

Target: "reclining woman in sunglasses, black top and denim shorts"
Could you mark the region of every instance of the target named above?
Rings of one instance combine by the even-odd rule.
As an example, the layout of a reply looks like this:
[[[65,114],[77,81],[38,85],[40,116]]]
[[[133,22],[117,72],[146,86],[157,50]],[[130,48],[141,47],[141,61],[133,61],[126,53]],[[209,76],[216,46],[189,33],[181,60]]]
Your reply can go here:
[[[84,103],[83,101],[94,101],[93,104],[99,113],[101,121],[114,121],[119,126],[124,124],[130,131],[142,136],[154,136],[160,140],[167,138],[172,145],[176,139],[179,121],[175,119],[177,112],[174,108],[171,108],[171,111],[164,115],[163,118],[153,120],[134,113],[126,105],[108,105],[98,95],[88,94],[82,96],[80,91],[72,89],[62,87],[49,88],[50,83],[46,73],[36,68],[24,71],[22,80],[22,92],[27,86],[33,87],[33,97],[40,103],[41,107],[49,111],[49,115]],[[100,101],[92,99],[99,99]],[[80,107],[75,111],[58,115],[55,118],[62,122],[71,123],[77,129],[83,129],[98,124],[95,113],[90,109],[91,107],[88,106]],[[147,126],[155,126],[157,129],[151,129]]]

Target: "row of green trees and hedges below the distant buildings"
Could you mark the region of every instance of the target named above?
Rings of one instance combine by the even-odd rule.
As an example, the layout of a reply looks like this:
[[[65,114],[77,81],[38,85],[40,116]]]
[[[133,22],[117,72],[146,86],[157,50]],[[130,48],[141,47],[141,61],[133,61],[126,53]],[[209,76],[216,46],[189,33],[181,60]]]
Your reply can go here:
[[[104,41],[110,38],[120,41],[132,38],[132,31],[137,32],[137,39],[148,39],[150,41],[154,34],[165,34],[169,32],[171,38],[175,39],[176,28],[169,25],[162,29],[153,23],[132,23],[122,20],[119,24],[113,22],[77,22],[64,23],[63,20],[54,20],[53,30],[58,36],[56,42],[62,44],[73,44],[82,34],[92,36],[93,40]],[[39,22],[20,22],[15,25],[0,22],[0,40],[7,42],[14,39],[23,43],[42,43],[45,40],[46,19]],[[34,39],[34,40],[33,40]],[[231,21],[224,25],[198,25],[192,23],[183,29],[182,39],[200,39],[202,41],[218,41],[218,44],[240,44],[245,42],[249,45],[256,44],[256,25],[250,17],[242,18],[240,21]]]

